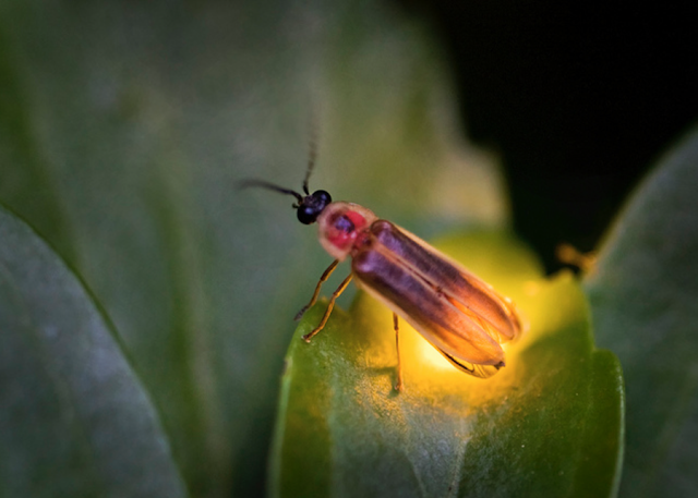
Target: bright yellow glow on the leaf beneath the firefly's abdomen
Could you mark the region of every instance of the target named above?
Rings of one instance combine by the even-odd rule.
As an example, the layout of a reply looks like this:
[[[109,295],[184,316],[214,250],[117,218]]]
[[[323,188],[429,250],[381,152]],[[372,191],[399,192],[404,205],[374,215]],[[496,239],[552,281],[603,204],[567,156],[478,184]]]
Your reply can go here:
[[[467,246],[466,251],[472,256],[473,245]],[[351,328],[344,335],[341,330],[337,330],[339,333],[334,336],[341,337],[345,351],[347,347],[352,351],[352,364],[356,365],[356,371],[352,372],[357,376],[354,398],[358,403],[372,406],[371,410],[377,410],[378,413],[389,413],[396,423],[399,423],[405,408],[402,402],[438,406],[438,410],[460,416],[472,410],[486,410],[485,406],[491,406],[492,403],[497,405],[504,402],[529,382],[531,375],[537,375],[535,365],[525,362],[521,353],[546,333],[558,330],[562,324],[559,320],[570,319],[564,309],[564,302],[574,296],[561,293],[565,286],[561,288],[559,284],[561,280],[571,276],[546,280],[534,258],[530,258],[533,263],[526,266],[527,259],[519,257],[524,269],[514,266],[515,269],[512,270],[512,266],[497,266],[486,262],[485,256],[501,258],[501,254],[483,256],[483,252],[488,252],[486,247],[480,250],[479,255],[476,254],[476,258],[485,262],[481,266],[468,265],[467,260],[458,258],[458,254],[456,258],[492,283],[496,291],[510,297],[520,312],[522,325],[528,325],[528,330],[525,328],[526,331],[517,340],[502,344],[506,366],[488,379],[472,377],[455,367],[419,332],[400,319],[404,390],[397,394],[393,390],[397,381],[397,353],[392,312],[370,295],[359,293],[350,313]],[[348,375],[347,371],[342,371],[341,375]]]

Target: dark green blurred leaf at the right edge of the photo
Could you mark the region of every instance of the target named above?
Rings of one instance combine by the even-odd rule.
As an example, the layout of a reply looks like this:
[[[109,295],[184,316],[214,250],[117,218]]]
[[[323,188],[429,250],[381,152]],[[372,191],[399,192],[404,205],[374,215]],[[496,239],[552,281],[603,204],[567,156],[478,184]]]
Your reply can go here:
[[[660,161],[586,281],[627,389],[621,496],[698,495],[698,131]]]

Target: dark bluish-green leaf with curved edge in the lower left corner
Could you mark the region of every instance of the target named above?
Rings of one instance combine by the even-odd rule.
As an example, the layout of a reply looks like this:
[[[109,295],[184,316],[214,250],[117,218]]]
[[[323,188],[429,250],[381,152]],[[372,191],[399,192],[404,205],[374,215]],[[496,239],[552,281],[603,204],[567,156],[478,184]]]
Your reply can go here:
[[[0,208],[0,495],[181,497],[140,380],[56,254]]]

